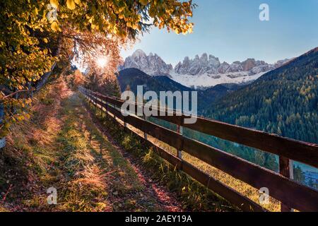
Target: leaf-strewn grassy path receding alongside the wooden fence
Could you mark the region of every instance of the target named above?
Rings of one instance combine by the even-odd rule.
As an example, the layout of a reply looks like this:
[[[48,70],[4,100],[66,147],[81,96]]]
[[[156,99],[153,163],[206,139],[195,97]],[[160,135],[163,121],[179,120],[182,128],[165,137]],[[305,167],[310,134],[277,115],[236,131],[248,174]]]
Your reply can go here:
[[[67,179],[62,189],[66,210],[180,210],[126,160],[122,151],[93,123],[76,93],[61,103],[64,126],[59,136],[60,165]],[[169,197],[171,194],[164,194]]]

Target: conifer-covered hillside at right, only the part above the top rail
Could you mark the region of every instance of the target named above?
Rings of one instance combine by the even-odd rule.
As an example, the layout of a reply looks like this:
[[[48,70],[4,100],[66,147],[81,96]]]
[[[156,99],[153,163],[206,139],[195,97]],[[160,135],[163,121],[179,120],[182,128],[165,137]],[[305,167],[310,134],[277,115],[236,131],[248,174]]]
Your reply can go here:
[[[213,103],[213,119],[318,143],[318,48]]]

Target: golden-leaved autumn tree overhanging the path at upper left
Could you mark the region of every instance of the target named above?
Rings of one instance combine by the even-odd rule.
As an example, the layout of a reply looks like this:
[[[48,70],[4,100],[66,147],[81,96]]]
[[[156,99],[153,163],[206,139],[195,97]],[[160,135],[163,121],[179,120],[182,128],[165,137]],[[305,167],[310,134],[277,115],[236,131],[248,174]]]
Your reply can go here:
[[[93,61],[110,59],[112,76],[119,47],[151,25],[177,33],[192,32],[192,1],[178,0],[8,0],[0,3],[0,98],[6,109],[1,133],[10,121],[23,119],[25,100],[13,92],[28,90],[59,61],[74,55]],[[59,65],[59,64],[58,64]],[[11,111],[12,107],[16,109]]]

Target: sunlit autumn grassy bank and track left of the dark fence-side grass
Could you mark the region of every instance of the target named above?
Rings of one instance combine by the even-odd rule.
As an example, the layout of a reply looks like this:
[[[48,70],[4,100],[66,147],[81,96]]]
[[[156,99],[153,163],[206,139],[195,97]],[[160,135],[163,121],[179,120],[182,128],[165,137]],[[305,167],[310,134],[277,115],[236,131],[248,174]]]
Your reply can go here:
[[[37,94],[33,111],[0,153],[0,211],[167,210],[61,79]]]

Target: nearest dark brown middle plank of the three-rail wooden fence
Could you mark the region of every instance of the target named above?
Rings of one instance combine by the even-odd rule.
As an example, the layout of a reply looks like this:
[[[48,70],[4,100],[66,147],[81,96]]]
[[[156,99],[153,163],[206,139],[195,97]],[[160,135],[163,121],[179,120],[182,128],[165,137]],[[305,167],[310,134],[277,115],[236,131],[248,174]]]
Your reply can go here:
[[[318,191],[310,187],[190,138],[184,138],[183,150],[257,189],[267,187],[270,196],[292,208],[318,210]]]

